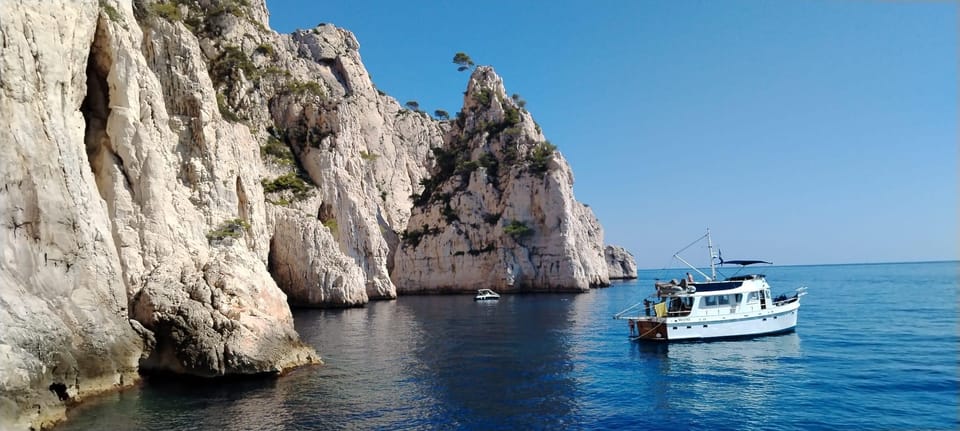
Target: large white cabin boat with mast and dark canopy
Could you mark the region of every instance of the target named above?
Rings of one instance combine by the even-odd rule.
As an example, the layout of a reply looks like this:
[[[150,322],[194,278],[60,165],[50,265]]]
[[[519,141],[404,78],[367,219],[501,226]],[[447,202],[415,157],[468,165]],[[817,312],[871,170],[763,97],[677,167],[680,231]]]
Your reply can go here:
[[[770,295],[770,285],[763,274],[717,280],[714,259],[718,257],[713,254],[710,231],[707,230],[707,234],[693,244],[704,238],[710,251],[711,275],[704,274],[683,260],[679,256],[683,250],[674,254],[675,258],[700,274],[705,281],[694,281],[688,272],[680,282],[655,282],[656,292],[653,295],[613,316],[627,320],[630,338],[643,341],[708,340],[795,330],[800,297],[806,294],[807,288],[800,287],[790,296],[784,294],[774,298]],[[721,265],[741,265],[741,268],[770,263],[762,260],[724,261],[722,258],[719,262]]]

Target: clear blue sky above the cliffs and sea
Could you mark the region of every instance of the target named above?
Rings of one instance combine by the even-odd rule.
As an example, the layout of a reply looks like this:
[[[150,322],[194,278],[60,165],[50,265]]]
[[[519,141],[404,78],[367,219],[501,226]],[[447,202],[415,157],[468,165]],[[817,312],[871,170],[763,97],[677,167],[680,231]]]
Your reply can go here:
[[[493,66],[641,268],[707,227],[728,259],[958,258],[957,2],[267,5],[282,33],[352,31],[428,112],[460,109],[455,52]]]

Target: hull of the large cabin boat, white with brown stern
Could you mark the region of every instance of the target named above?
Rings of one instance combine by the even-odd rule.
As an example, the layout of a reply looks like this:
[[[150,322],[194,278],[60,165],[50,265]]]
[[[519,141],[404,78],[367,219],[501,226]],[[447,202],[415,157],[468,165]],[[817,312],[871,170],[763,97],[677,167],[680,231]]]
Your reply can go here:
[[[793,304],[791,304],[793,305]],[[742,338],[782,334],[796,329],[799,304],[752,315],[722,318],[639,318],[631,337],[642,341],[682,341]]]

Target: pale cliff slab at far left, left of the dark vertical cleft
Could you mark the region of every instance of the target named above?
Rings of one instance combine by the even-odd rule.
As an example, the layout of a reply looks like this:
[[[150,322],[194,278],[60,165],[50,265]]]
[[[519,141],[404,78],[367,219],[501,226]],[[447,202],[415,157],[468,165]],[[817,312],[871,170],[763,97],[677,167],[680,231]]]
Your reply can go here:
[[[26,12],[0,3],[2,429],[49,423],[64,414],[61,399],[135,382],[149,339],[128,320],[122,250],[85,145],[107,127],[97,118],[99,135],[85,139],[97,9]],[[113,121],[129,139],[127,124]]]

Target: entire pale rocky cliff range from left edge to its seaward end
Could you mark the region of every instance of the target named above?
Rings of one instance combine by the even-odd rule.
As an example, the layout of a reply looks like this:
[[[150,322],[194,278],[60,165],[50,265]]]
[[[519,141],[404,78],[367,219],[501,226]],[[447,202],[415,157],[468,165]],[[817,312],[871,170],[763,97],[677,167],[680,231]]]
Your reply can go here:
[[[62,6],[0,3],[0,429],[140,371],[319,363],[288,304],[636,276],[492,68],[434,119],[262,0]]]

